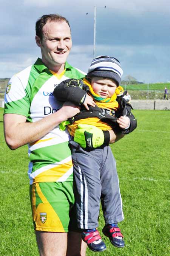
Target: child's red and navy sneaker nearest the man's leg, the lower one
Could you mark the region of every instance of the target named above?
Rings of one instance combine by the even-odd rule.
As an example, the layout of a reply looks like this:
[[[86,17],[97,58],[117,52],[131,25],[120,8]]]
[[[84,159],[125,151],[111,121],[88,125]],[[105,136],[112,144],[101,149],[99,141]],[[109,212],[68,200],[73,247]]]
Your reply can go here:
[[[106,250],[106,245],[102,241],[99,231],[96,230],[96,228],[82,232],[82,239],[92,251],[100,252]]]

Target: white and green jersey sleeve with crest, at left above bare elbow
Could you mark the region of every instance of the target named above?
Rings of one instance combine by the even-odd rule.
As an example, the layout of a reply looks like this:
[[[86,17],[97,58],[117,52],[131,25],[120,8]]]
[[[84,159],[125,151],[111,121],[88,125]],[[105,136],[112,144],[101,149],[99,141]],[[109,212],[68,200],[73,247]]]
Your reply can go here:
[[[27,84],[24,82],[17,75],[12,76],[9,80],[5,93],[4,114],[28,116],[30,100]]]

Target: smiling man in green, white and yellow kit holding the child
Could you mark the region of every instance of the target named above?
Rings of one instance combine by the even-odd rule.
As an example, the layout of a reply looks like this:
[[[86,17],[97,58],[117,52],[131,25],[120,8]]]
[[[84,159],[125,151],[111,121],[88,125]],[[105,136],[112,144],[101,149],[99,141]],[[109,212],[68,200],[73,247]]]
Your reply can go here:
[[[40,255],[84,256],[81,233],[68,233],[69,221],[73,223],[73,166],[69,135],[59,129],[79,108],[69,102],[62,106],[52,93],[63,80],[84,73],[66,62],[72,41],[64,17],[50,14],[37,20],[36,43],[42,59],[15,74],[6,89],[5,140],[11,149],[29,147],[30,198]],[[84,132],[77,134],[86,141]],[[110,142],[116,139],[111,131]]]

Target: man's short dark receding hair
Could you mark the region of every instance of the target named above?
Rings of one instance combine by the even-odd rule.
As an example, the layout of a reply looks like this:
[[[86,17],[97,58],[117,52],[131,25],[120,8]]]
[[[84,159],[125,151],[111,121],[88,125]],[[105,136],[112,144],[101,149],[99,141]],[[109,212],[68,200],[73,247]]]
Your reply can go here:
[[[50,21],[50,22],[51,21],[54,21],[54,22],[66,22],[68,24],[68,26],[70,27],[70,24],[69,24],[68,20],[65,17],[63,17],[63,16],[60,16],[59,14],[43,15],[36,22],[36,36],[38,36],[40,38],[40,40],[42,40],[42,37],[43,37],[43,33],[42,33],[43,26],[48,21]]]

